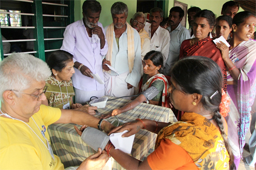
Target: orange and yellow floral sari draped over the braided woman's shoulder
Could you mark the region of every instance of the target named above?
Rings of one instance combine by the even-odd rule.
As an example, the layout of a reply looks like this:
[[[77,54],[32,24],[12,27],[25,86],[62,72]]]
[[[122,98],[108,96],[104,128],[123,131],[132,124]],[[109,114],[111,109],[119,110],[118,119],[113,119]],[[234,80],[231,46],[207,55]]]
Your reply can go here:
[[[197,113],[184,113],[181,121],[158,133],[155,149],[166,138],[182,147],[198,169],[229,169],[229,154],[219,129]]]

